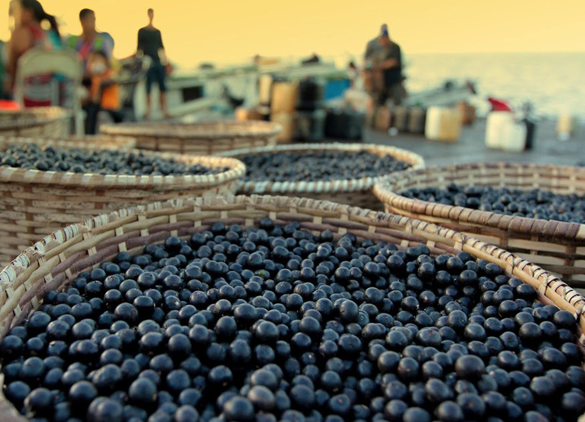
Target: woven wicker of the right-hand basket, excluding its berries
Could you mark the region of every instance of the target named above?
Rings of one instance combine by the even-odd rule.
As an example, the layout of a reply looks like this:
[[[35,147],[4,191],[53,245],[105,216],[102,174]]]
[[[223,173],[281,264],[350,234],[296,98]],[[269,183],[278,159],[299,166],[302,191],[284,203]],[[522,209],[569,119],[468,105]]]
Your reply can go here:
[[[558,194],[583,194],[585,169],[519,163],[457,164],[395,174],[374,187],[388,212],[471,234],[560,275],[573,287],[585,286],[585,225],[512,217],[398,194],[414,187],[445,188],[452,182],[461,186],[541,188]]]

